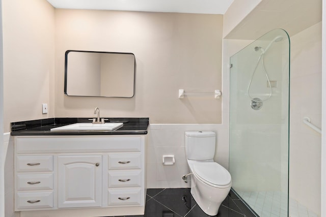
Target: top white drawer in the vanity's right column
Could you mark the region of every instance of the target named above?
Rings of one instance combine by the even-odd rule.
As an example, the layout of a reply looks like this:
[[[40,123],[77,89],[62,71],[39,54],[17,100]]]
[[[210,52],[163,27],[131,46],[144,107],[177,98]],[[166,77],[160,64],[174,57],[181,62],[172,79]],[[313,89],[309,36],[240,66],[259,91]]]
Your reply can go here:
[[[141,169],[141,163],[141,153],[108,155],[109,170]]]

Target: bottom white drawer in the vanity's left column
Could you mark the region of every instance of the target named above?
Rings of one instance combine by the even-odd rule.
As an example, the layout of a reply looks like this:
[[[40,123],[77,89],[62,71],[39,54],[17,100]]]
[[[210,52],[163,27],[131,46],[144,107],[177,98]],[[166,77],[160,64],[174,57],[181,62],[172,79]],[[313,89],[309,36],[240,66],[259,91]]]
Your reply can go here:
[[[52,208],[53,192],[17,193],[17,209]]]

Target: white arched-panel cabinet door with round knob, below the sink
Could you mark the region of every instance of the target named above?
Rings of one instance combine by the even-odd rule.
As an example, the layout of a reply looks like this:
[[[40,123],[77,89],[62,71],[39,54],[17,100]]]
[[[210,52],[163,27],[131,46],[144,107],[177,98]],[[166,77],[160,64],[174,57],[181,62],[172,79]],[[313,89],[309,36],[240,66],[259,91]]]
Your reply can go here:
[[[58,157],[58,207],[96,207],[102,202],[102,156]]]

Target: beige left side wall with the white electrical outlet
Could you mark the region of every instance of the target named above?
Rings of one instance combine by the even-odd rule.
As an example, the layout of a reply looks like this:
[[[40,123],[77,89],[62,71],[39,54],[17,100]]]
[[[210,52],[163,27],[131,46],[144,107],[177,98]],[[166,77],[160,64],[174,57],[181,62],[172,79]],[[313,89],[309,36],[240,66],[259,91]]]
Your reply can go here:
[[[2,3],[4,132],[10,132],[10,122],[54,115],[55,10],[40,0]]]

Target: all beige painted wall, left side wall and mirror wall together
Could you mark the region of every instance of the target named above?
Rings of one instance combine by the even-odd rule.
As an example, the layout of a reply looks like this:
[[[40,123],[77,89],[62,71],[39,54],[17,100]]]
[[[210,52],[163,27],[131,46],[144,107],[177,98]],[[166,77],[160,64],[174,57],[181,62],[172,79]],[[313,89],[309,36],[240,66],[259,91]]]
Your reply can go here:
[[[10,122],[89,117],[95,107],[152,123],[221,123],[221,100],[180,100],[178,89],[222,89],[222,15],[55,10],[45,0],[5,0],[3,12],[5,132]],[[134,53],[135,96],[64,96],[68,49]]]

